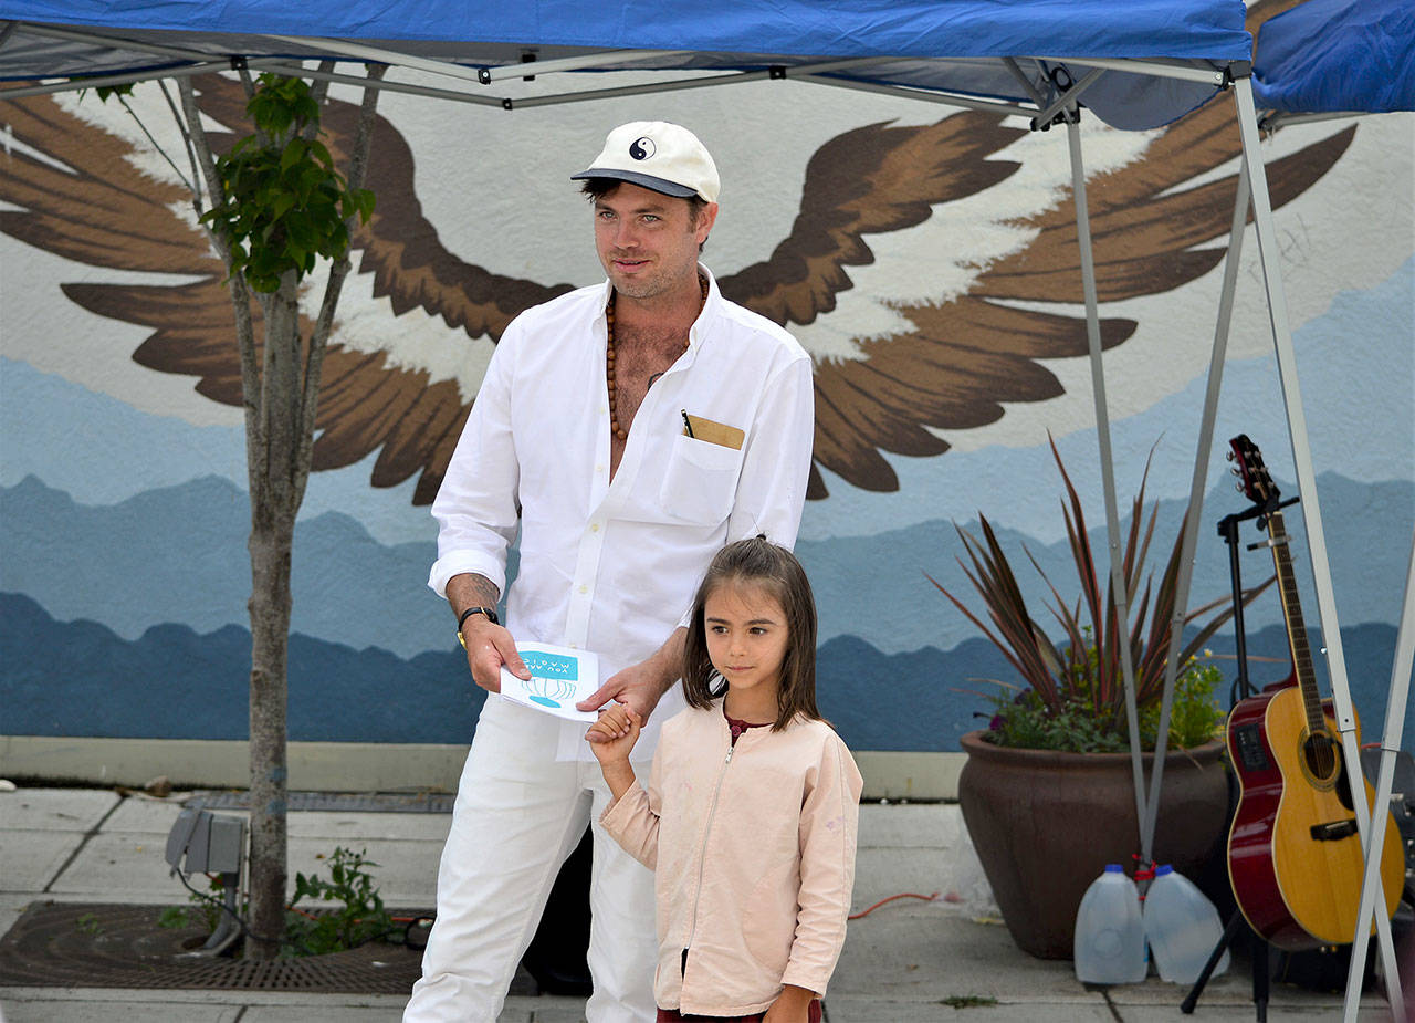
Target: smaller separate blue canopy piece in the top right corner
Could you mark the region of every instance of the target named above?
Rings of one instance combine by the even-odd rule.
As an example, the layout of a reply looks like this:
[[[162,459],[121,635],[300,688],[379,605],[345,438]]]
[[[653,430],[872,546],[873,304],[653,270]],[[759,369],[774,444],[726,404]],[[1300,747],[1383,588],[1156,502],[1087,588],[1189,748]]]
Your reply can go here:
[[[1269,110],[1415,110],[1415,4],[1307,0],[1262,25],[1252,71]]]

